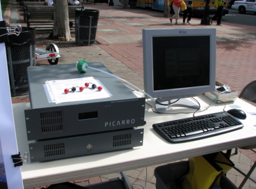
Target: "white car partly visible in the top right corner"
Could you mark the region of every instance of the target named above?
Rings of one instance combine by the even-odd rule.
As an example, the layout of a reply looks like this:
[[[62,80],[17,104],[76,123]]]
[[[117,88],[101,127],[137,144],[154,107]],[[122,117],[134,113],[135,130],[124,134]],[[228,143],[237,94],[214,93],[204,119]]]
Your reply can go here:
[[[231,6],[231,9],[236,9],[240,14],[245,14],[246,12],[254,12],[256,14],[256,0],[243,0],[235,1]]]

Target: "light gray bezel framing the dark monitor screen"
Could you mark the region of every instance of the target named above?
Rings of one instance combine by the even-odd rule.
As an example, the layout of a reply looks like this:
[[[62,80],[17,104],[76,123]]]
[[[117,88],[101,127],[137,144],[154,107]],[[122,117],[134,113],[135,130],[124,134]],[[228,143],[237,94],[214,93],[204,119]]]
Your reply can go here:
[[[154,91],[153,37],[209,36],[210,75],[209,85]],[[144,91],[150,98],[178,99],[193,97],[205,92],[215,91],[216,81],[216,29],[143,29],[143,72]]]

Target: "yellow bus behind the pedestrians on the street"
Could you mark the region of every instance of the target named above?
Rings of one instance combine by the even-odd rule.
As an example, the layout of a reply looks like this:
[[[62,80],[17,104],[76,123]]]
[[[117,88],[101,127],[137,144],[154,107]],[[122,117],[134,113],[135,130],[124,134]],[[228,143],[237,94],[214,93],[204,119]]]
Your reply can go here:
[[[215,14],[215,6],[214,2],[210,0],[210,8],[209,14]],[[173,0],[169,0],[169,6],[171,6]],[[164,0],[137,0],[136,7],[145,8],[145,9],[152,9],[152,10],[164,10]],[[203,16],[204,15],[204,8],[205,8],[205,0],[193,0],[193,15],[195,16]],[[172,11],[171,11],[172,13]],[[182,13],[181,13],[182,14]],[[223,9],[223,15],[228,14],[227,10],[227,3]]]

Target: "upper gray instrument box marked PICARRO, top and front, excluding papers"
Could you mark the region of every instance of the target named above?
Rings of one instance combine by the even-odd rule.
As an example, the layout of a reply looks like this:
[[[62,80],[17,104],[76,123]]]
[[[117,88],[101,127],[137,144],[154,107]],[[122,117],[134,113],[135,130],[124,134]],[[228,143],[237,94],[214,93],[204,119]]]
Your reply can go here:
[[[91,63],[90,66],[110,72],[100,62]],[[81,77],[99,80],[112,96],[57,104],[49,102],[44,89],[47,80]],[[118,78],[109,74],[94,69],[81,73],[76,64],[63,64],[28,67],[28,79],[31,103],[31,109],[25,110],[28,141],[144,125],[145,98],[138,98]]]

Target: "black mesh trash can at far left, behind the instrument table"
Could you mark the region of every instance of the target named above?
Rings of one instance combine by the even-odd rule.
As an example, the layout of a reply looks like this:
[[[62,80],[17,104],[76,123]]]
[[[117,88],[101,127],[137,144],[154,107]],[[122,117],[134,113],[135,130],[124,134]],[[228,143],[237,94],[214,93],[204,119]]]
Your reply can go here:
[[[35,29],[22,27],[19,36],[9,35],[6,56],[12,96],[28,94],[27,67],[35,66]]]

